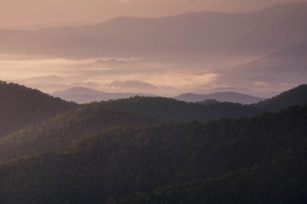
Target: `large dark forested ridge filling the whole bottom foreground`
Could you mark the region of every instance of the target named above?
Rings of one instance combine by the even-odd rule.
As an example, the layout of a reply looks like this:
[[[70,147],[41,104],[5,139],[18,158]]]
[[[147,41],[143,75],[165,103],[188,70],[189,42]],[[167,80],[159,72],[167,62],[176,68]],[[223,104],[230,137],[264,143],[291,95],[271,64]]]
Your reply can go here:
[[[0,165],[1,203],[304,203],[307,106],[117,127]]]

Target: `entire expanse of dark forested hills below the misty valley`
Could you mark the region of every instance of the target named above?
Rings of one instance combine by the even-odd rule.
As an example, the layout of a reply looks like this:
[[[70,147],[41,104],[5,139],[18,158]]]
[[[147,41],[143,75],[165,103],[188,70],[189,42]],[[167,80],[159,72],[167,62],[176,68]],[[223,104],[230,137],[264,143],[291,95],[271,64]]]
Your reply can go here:
[[[307,85],[254,105],[0,90],[0,203],[307,201]]]

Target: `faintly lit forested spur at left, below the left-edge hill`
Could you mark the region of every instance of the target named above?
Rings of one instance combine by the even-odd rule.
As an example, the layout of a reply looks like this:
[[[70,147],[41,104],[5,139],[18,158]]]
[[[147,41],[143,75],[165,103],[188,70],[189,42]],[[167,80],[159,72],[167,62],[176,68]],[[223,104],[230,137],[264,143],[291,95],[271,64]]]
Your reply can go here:
[[[44,123],[28,125],[0,139],[0,162],[57,152],[71,146],[80,137],[112,126],[150,124],[156,119],[134,113],[107,110],[97,103],[79,106],[74,111],[59,114]]]

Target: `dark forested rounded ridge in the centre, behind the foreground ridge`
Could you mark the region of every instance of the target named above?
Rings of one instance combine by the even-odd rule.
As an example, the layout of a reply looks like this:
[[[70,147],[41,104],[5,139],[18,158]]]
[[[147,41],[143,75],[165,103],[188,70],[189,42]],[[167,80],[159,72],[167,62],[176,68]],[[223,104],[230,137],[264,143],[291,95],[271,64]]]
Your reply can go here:
[[[209,103],[202,106],[201,104],[186,103],[171,98],[140,96],[102,101],[100,105],[106,109],[129,111],[173,121],[204,121],[209,118],[250,117],[264,112],[261,108],[242,104]]]

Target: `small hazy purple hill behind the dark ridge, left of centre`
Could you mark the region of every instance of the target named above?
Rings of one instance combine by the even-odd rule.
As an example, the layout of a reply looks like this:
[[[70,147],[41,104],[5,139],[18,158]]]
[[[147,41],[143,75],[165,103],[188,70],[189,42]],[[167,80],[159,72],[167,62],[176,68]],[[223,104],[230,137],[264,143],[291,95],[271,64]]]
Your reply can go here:
[[[51,93],[51,95],[55,97],[60,97],[64,100],[75,101],[78,104],[91,103],[93,101],[101,101],[101,100],[129,98],[136,95],[152,96],[143,93],[107,93],[83,87],[74,87],[64,91],[56,91]]]

